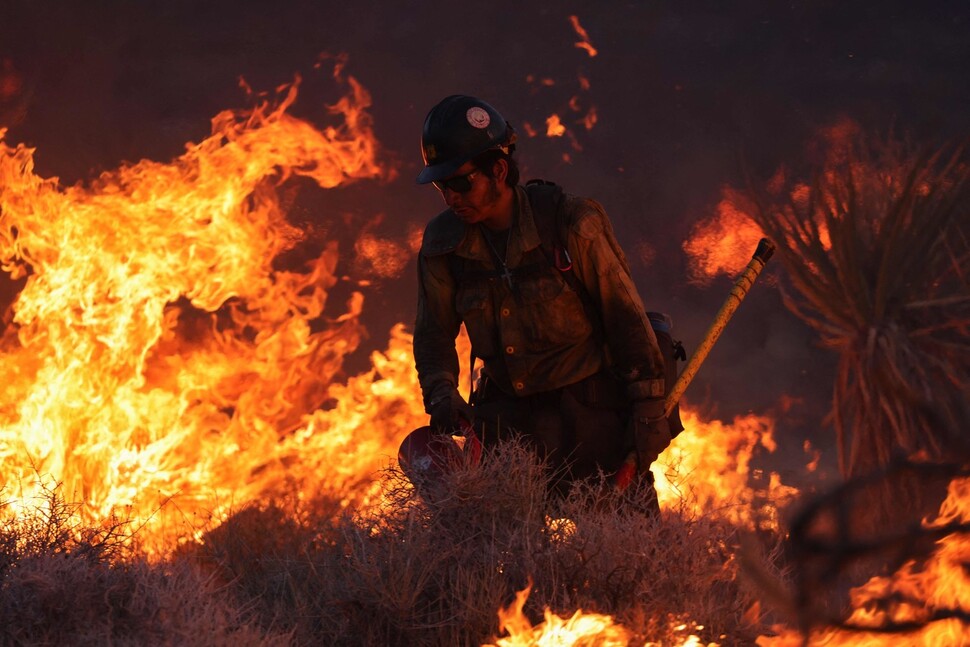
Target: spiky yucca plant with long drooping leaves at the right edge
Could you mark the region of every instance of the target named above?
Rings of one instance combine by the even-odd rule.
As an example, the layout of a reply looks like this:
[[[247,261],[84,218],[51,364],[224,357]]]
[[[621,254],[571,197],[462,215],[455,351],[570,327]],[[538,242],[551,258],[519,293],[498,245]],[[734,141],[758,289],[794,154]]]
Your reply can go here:
[[[840,356],[833,415],[846,476],[894,456],[968,455],[970,170],[854,134],[809,184],[779,175],[748,211],[795,288],[786,303]]]

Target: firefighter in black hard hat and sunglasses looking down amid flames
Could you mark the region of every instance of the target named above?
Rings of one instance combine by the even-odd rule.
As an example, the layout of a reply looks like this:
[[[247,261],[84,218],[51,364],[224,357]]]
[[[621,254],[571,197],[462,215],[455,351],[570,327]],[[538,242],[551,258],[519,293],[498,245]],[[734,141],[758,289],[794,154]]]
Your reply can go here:
[[[446,97],[424,122],[417,181],[447,205],[418,256],[414,359],[431,428],[473,422],[486,447],[522,434],[561,492],[634,453],[652,483],[670,443],[664,360],[625,256],[597,202],[560,193],[553,209],[520,184],[515,140],[470,96]],[[482,362],[471,404],[458,391],[461,324]]]

